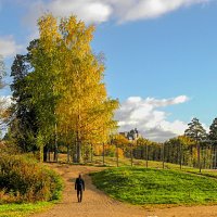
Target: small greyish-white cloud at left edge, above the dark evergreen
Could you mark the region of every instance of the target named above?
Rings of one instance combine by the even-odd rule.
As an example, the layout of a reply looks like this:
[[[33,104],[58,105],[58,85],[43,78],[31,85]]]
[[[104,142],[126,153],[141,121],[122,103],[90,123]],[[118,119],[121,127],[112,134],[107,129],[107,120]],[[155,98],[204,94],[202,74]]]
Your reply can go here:
[[[9,58],[21,52],[23,47],[17,44],[13,36],[0,37],[0,54]]]

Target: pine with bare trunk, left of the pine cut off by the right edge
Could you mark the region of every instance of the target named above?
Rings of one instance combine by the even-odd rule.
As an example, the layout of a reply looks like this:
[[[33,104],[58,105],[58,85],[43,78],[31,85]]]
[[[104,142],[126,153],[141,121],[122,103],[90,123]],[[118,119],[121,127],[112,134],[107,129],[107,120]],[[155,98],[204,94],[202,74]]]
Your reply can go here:
[[[203,128],[201,123],[199,122],[197,118],[193,118],[191,123],[188,124],[188,129],[184,131],[184,136],[194,139],[196,141],[196,146],[197,146],[197,165],[200,167],[200,173],[201,173],[201,145],[200,142],[205,140],[207,138],[206,130]]]

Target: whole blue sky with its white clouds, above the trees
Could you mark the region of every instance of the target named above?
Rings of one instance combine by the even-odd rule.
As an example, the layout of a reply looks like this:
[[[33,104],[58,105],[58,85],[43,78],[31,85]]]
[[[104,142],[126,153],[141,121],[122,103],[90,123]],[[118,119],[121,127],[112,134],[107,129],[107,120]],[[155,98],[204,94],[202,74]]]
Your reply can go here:
[[[9,75],[14,55],[38,37],[44,12],[97,26],[91,46],[105,55],[119,131],[137,128],[162,142],[182,135],[193,117],[208,131],[217,117],[217,0],[0,0]],[[9,88],[0,91],[10,98]]]

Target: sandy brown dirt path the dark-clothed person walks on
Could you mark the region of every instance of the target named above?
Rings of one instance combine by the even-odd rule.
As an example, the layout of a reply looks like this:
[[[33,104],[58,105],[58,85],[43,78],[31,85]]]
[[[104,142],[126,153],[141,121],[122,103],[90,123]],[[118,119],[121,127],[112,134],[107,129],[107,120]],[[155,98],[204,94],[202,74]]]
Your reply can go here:
[[[68,166],[53,164],[51,167],[63,177],[65,189],[63,201],[52,209],[31,217],[217,217],[217,206],[171,207],[146,210],[139,206],[119,203],[95,189],[87,175],[103,168],[91,166]],[[86,191],[82,203],[77,203],[74,181],[84,175]]]

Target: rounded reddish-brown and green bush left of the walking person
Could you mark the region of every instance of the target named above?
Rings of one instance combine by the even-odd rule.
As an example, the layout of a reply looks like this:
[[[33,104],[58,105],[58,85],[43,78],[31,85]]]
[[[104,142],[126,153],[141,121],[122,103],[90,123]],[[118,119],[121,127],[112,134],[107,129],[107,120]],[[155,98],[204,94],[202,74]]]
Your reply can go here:
[[[21,155],[0,155],[0,203],[51,201],[62,182],[54,171]]]

